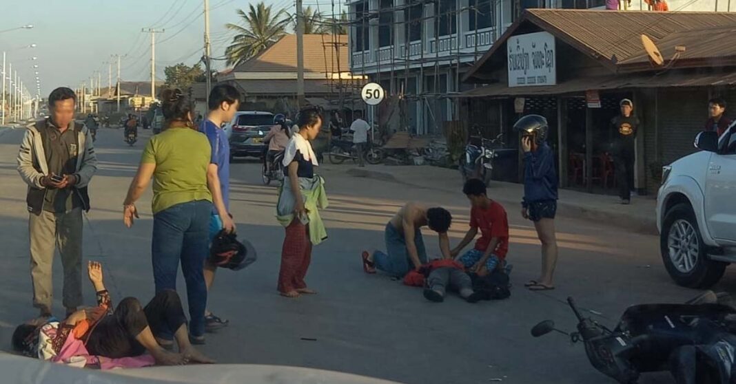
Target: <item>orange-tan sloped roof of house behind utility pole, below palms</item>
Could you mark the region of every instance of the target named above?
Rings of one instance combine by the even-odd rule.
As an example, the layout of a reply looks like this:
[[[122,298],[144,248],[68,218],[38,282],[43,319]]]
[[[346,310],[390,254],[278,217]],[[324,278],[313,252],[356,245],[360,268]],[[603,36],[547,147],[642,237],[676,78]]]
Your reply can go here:
[[[266,51],[233,69],[233,72],[296,71],[296,35],[285,35]],[[304,35],[304,71],[322,74],[350,71],[347,35]]]

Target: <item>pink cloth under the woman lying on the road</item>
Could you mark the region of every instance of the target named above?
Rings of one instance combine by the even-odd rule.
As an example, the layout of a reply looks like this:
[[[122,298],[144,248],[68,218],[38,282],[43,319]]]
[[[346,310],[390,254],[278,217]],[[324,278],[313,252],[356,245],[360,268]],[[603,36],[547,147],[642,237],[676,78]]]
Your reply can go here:
[[[100,369],[113,368],[141,368],[152,366],[155,360],[151,355],[140,355],[132,358],[105,358],[103,356],[90,355],[81,340],[69,335],[61,347],[58,355],[51,359],[54,363],[67,364],[71,366],[99,365]],[[82,363],[84,363],[82,365]]]

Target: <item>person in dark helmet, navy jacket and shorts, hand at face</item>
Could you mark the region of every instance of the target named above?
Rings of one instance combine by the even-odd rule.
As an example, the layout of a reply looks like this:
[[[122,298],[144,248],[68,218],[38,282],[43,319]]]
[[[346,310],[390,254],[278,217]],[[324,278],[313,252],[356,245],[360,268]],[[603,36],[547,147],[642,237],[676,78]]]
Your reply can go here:
[[[521,133],[524,152],[524,198],[521,216],[534,221],[542,242],[542,274],[525,284],[530,291],[554,289],[553,275],[557,264],[557,238],[554,217],[557,212],[557,173],[554,154],[547,143],[549,126],[540,115],[526,115],[514,124]]]

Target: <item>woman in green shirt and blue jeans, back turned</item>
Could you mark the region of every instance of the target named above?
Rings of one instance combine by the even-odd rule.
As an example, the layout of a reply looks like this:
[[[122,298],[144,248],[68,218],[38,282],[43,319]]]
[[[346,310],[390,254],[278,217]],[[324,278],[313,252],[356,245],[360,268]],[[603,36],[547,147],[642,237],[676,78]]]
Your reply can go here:
[[[152,261],[156,292],[176,290],[181,263],[187,287],[190,338],[204,343],[207,287],[202,274],[208,255],[212,195],[208,189],[210,143],[192,122],[194,104],[181,90],[163,90],[167,129],[146,145],[125,198],[123,221],[138,218],[135,202],[153,178]],[[163,338],[166,340],[166,336]],[[169,338],[170,339],[170,338]],[[166,341],[162,341],[166,344]]]

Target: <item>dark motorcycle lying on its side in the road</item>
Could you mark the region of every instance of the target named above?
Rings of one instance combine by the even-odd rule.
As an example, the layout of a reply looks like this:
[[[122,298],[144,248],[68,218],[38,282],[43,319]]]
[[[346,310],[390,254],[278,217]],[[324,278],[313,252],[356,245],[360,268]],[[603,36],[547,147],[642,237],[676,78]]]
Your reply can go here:
[[[583,317],[572,297],[567,304],[577,332],[546,320],[531,335],[556,331],[581,341],[591,365],[618,383],[637,383],[641,373],[654,371],[670,371],[678,384],[736,383],[736,309],[728,295],[708,291],[685,304],[634,305],[613,330]]]

